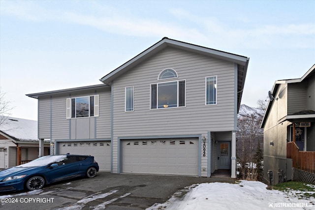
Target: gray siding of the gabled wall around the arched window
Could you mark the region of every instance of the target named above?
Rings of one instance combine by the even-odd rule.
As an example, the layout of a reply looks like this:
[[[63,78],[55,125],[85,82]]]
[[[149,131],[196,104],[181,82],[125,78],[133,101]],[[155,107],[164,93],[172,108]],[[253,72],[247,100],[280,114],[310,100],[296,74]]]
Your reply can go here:
[[[173,68],[186,80],[186,107],[150,110],[150,84]],[[218,105],[205,106],[205,77],[218,76]],[[163,82],[172,80],[163,80]],[[125,113],[125,87],[134,86],[134,112]],[[234,64],[167,48],[114,83],[114,135],[194,134],[234,129]]]

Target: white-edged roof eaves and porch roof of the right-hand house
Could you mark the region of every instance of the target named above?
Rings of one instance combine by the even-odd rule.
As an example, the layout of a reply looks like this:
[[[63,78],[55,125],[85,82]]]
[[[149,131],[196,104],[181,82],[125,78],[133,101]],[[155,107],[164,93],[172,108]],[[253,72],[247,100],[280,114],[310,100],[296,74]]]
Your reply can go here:
[[[300,83],[300,82],[303,82],[305,79],[307,79],[313,75],[315,75],[315,64],[301,78],[277,80],[274,84],[274,87],[271,90],[271,94],[275,95],[277,90],[278,90],[279,85],[281,85],[281,84]],[[260,126],[261,128],[263,128],[265,126],[266,118],[269,115],[269,112],[271,109],[271,104],[272,104],[272,101],[269,101],[267,104],[267,109],[266,109],[264,118],[262,119],[262,122],[261,122],[261,126]],[[310,110],[310,111],[312,112],[312,110]],[[284,119],[282,119],[282,121],[289,120],[289,119],[301,118],[301,115],[304,115],[305,118],[308,118],[308,117],[314,118],[315,115],[314,115],[314,113],[311,113],[311,112],[301,111],[300,113],[294,113],[290,116],[285,116]],[[293,115],[295,115],[295,116],[293,116]]]

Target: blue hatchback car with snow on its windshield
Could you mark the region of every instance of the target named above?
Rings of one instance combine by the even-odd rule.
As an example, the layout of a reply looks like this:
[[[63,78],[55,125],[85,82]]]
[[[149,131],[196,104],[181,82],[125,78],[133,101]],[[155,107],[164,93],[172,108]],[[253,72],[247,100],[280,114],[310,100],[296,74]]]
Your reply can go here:
[[[48,155],[0,171],[0,192],[36,190],[45,184],[76,177],[93,178],[99,167],[90,155]]]

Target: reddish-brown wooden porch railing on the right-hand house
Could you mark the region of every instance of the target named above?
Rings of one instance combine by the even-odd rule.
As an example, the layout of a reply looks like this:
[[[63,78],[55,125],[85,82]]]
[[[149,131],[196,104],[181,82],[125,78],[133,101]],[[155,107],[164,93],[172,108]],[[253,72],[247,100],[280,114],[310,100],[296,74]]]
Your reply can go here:
[[[299,151],[295,142],[286,144],[286,157],[292,158],[293,168],[315,173],[315,151]]]

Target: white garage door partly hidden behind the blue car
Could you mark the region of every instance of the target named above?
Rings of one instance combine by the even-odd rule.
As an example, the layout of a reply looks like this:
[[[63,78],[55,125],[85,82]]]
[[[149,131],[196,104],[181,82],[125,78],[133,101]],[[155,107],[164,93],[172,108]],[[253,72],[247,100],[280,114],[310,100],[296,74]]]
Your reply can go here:
[[[59,142],[59,154],[89,154],[94,156],[100,171],[111,170],[111,143],[95,142]]]

